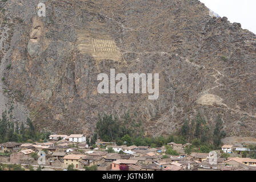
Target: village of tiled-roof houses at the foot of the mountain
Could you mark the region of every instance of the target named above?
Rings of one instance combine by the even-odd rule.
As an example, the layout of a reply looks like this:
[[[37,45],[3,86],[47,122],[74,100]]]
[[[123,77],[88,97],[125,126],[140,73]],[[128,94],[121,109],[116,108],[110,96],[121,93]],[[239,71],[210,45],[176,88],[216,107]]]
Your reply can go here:
[[[19,164],[25,170],[44,171],[256,171],[256,159],[246,158],[250,148],[241,144],[224,144],[215,163],[209,153],[184,149],[191,143],[170,142],[166,146],[117,146],[115,142],[97,140],[94,147],[83,134],[50,135],[47,142],[0,144],[0,165]],[[168,155],[171,148],[179,155]],[[38,163],[45,158],[45,164]]]

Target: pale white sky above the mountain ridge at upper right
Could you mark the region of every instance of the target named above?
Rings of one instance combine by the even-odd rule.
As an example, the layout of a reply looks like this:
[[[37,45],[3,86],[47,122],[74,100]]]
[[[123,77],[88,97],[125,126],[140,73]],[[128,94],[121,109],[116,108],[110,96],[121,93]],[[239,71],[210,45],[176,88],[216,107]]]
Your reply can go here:
[[[256,0],[199,0],[219,16],[226,16],[231,23],[242,24],[256,34]]]

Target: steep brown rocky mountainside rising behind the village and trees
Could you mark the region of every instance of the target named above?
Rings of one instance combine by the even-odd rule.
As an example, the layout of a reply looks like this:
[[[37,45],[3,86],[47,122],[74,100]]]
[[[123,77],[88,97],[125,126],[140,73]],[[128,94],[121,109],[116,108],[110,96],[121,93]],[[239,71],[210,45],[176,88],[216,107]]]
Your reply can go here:
[[[256,135],[256,36],[239,23],[197,0],[40,2],[46,17],[39,1],[8,0],[1,31],[12,33],[2,35],[9,96],[42,130],[91,133],[98,112],[130,110],[147,134],[169,134],[200,111],[209,125],[221,114],[229,135]],[[99,94],[110,68],[159,73],[158,100]]]

